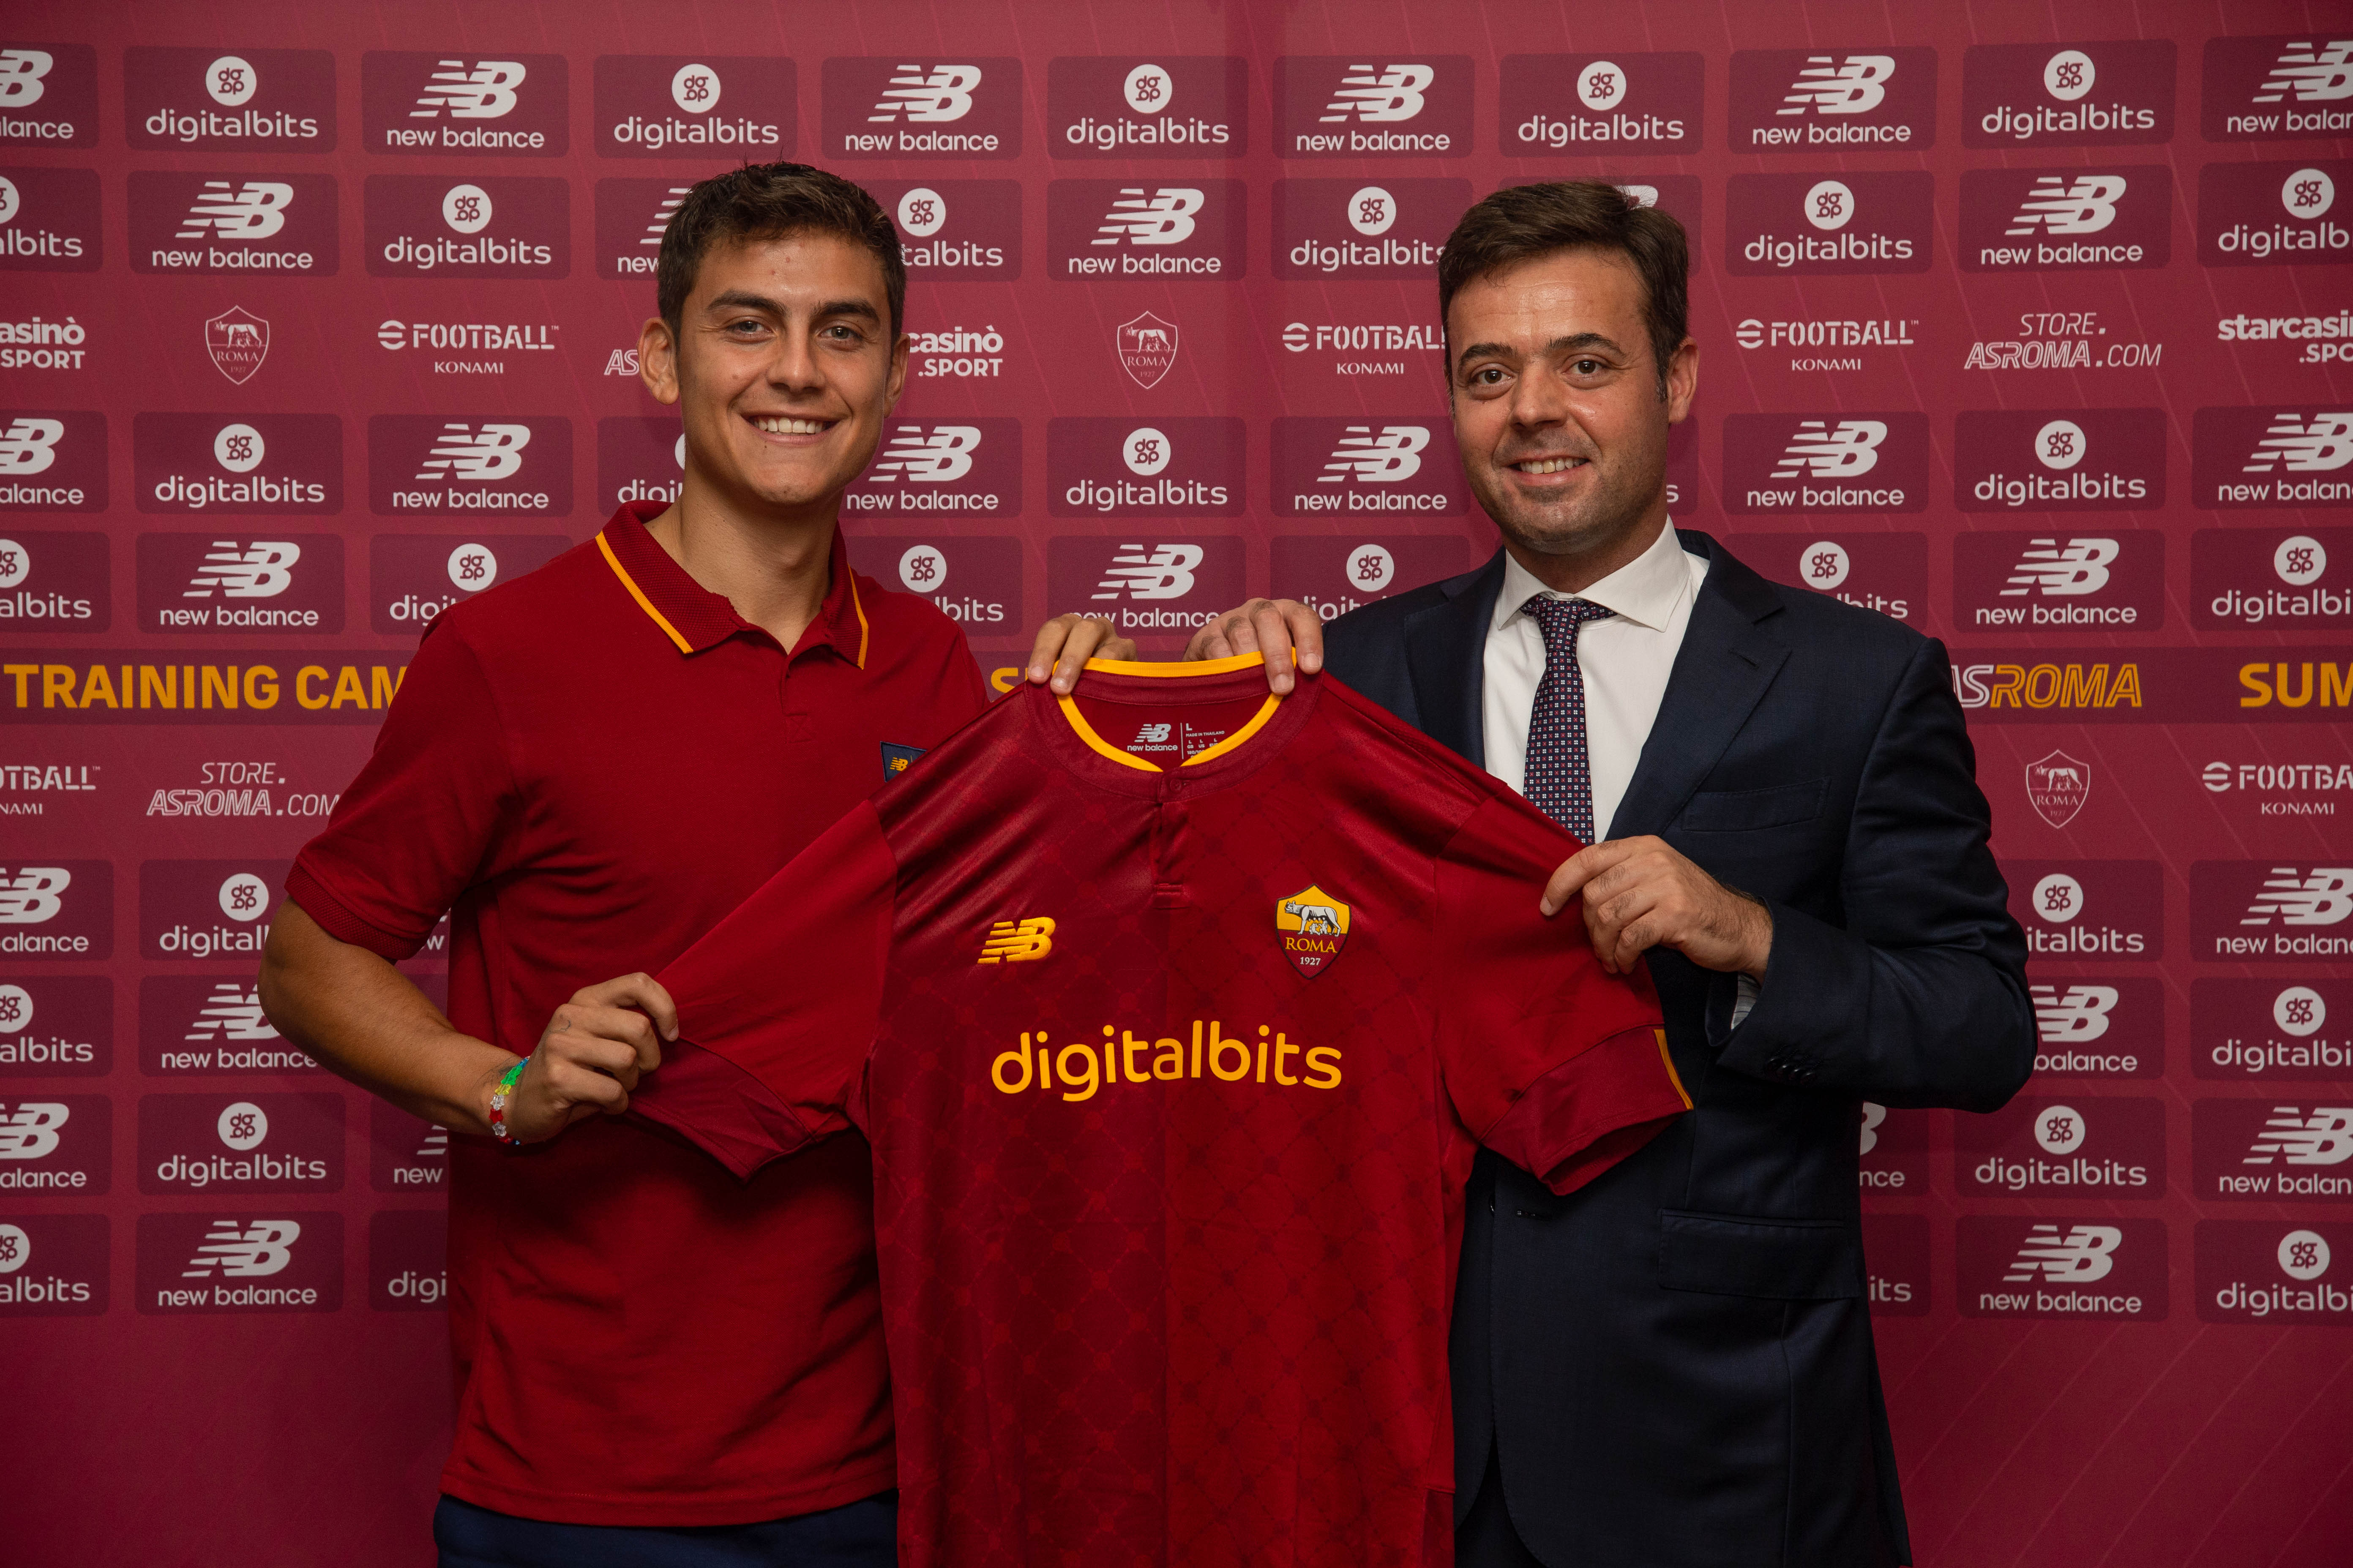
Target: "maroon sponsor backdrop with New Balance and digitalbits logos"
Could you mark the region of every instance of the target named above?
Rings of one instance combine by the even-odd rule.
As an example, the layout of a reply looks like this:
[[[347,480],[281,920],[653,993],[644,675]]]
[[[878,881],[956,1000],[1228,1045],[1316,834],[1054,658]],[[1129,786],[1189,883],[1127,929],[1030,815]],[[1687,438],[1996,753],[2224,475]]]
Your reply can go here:
[[[0,1556],[428,1561],[447,1133],[254,959],[421,628],[678,494],[661,228],[798,158],[911,277],[852,559],[988,670],[1485,559],[1449,226],[1682,219],[1673,515],[1946,639],[2035,950],[2014,1105],[1857,1126],[1920,1561],[2346,1561],[2353,16],[1581,9],[9,7]]]

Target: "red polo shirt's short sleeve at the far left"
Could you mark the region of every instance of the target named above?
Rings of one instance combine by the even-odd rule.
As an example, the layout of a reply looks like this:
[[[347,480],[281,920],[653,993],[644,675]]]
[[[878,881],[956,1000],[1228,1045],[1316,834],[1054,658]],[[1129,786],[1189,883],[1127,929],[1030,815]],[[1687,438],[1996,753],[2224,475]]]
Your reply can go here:
[[[506,726],[473,649],[447,623],[416,646],[376,750],[287,875],[327,936],[400,961],[492,867],[518,790]]]

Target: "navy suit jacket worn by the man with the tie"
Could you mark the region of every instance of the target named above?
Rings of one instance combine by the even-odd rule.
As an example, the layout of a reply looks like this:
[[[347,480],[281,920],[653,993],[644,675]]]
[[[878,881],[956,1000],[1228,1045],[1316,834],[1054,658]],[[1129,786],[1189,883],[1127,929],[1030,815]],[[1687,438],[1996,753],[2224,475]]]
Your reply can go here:
[[[1944,644],[1711,559],[1607,837],[1762,898],[1772,961],[1649,973],[1692,1112],[1555,1199],[1471,1178],[1454,1300],[1457,1521],[1501,1462],[1553,1568],[1911,1561],[1857,1201],[1859,1103],[1993,1110],[2033,1070],[2026,940]],[[1332,623],[1325,668],[1485,766],[1504,555]],[[1534,889],[1529,889],[1534,896]],[[1572,914],[1574,917],[1574,914]]]

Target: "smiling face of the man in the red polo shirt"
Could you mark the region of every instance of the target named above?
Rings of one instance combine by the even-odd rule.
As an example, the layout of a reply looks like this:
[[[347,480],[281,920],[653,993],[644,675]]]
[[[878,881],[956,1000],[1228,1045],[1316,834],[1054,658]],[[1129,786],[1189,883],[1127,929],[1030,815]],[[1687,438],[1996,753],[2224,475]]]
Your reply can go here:
[[[748,515],[840,505],[906,386],[873,252],[826,233],[713,247],[673,339],[638,339],[647,390],[678,404],[687,489]]]

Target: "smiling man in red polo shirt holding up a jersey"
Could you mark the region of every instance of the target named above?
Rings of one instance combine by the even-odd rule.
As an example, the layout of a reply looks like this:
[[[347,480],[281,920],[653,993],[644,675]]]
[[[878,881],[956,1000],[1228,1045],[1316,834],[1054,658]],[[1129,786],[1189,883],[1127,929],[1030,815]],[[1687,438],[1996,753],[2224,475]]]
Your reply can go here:
[[[854,576],[835,527],[904,386],[904,296],[849,181],[696,186],[640,339],[685,421],[680,501],[445,614],[287,882],[271,1020],[473,1133],[442,1563],[892,1561],[866,1145],[739,1185],[621,1121],[675,1025],[607,976],[685,952],[986,703],[955,623]],[[1031,677],[1061,656],[1066,691],[1096,651],[1132,649],[1064,616]],[[393,969],[445,912],[447,1018]]]

